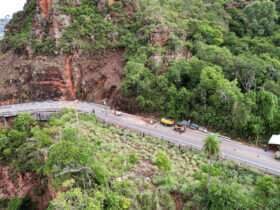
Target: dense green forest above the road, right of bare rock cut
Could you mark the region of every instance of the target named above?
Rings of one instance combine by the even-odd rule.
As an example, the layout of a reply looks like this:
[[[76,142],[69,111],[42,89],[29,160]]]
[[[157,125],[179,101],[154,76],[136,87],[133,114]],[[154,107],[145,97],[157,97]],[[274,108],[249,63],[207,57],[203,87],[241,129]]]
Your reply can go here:
[[[160,10],[141,11],[161,22],[143,15],[145,24],[136,33],[150,27],[149,35],[164,25],[171,35],[164,46],[137,40],[128,55],[124,93],[144,111],[191,118],[266,143],[280,130],[279,2],[239,1],[238,7],[230,6],[238,1],[207,2],[188,1],[186,8],[184,1],[165,1],[155,3]],[[192,58],[181,59],[183,50]],[[178,59],[165,61],[170,51]]]

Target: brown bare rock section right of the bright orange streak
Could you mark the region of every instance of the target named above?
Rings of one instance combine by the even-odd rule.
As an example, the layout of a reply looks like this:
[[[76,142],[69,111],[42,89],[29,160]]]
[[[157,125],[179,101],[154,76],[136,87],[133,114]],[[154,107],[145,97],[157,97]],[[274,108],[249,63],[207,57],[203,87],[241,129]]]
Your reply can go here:
[[[106,99],[110,104],[117,102],[124,66],[122,50],[75,57],[73,64],[75,81],[80,82],[78,98],[96,102]],[[77,72],[81,73],[80,80]]]

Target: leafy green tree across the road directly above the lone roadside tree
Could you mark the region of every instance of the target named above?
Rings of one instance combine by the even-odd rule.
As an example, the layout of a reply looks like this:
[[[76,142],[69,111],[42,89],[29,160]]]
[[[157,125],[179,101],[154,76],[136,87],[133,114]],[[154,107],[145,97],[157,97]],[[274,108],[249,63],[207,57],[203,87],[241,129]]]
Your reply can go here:
[[[219,68],[206,67],[195,92],[195,104],[200,104],[197,110],[201,113],[196,116],[197,120],[223,129],[232,127],[226,117],[241,98],[236,81],[225,79]]]

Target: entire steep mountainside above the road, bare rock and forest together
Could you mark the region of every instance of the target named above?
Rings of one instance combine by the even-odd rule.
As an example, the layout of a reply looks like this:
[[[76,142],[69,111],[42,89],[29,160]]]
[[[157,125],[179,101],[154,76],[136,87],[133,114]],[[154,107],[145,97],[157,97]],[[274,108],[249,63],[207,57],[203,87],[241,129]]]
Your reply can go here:
[[[279,0],[29,0],[1,103],[102,101],[266,143],[280,131]]]

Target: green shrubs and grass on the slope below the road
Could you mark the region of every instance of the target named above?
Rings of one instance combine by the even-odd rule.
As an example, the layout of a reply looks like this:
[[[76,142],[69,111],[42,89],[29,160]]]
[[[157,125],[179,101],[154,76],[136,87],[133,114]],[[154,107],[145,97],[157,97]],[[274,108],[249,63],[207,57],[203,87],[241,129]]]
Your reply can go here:
[[[50,210],[276,210],[280,205],[279,178],[217,160],[215,136],[206,140],[206,153],[198,153],[68,110],[44,125],[21,115],[1,130],[0,139],[2,163],[51,182],[58,194]],[[0,205],[36,206],[27,198]]]

